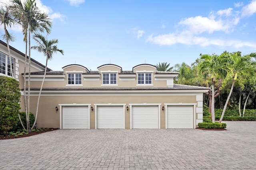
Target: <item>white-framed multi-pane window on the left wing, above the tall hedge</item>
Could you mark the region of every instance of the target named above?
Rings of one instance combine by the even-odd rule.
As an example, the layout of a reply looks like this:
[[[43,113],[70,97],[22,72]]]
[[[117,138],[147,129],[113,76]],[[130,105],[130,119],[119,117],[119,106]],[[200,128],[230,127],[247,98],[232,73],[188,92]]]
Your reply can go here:
[[[7,64],[6,64],[7,63]],[[14,59],[11,58],[12,72],[14,74]],[[10,57],[0,53],[0,73],[11,76]]]

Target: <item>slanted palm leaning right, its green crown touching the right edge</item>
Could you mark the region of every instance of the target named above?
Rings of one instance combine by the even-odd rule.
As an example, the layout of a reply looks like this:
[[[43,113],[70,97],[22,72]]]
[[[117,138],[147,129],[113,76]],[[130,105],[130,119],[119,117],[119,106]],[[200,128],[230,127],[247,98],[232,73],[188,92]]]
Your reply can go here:
[[[226,100],[225,106],[223,108],[219,123],[221,123],[226,108],[228,106],[228,101],[232,94],[234,84],[238,78],[240,73],[248,74],[250,77],[256,74],[256,62],[252,61],[253,57],[256,57],[256,53],[251,53],[250,55],[241,56],[241,52],[236,53],[227,53],[224,52],[223,57],[226,60],[227,66],[230,68],[230,76],[233,77],[233,82],[231,85],[230,92],[228,94],[228,98]]]

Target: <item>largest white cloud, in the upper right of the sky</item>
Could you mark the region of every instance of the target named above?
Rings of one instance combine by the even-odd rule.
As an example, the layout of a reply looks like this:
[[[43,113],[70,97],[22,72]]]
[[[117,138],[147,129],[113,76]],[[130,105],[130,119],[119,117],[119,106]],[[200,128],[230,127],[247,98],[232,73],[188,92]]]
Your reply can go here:
[[[256,0],[255,0],[256,1]],[[157,45],[200,45],[202,47],[215,45],[220,47],[226,46],[247,46],[256,47],[256,44],[242,41],[232,41],[224,39],[207,38],[206,33],[212,34],[216,31],[230,33],[240,22],[240,13],[232,8],[210,12],[209,16],[195,16],[183,18],[177,25],[176,32],[168,34],[155,35],[151,34],[146,39]],[[204,36],[202,34],[204,33]]]

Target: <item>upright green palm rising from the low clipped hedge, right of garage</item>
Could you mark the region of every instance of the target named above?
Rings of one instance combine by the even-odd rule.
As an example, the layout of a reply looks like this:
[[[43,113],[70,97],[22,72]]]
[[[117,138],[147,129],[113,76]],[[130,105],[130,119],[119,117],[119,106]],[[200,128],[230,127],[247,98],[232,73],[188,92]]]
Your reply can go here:
[[[221,56],[218,55],[200,55],[198,71],[201,76],[203,74],[207,74],[211,79],[211,114],[212,114],[212,122],[215,122],[215,112],[214,112],[214,89],[215,89],[215,81],[216,77],[220,76],[224,78],[227,73],[227,68],[224,66],[223,60]],[[210,96],[209,96],[210,97]]]

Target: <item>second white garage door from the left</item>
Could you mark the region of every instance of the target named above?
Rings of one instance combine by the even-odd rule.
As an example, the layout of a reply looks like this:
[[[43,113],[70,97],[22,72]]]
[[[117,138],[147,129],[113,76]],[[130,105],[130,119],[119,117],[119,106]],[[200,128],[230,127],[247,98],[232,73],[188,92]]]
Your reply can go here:
[[[123,129],[123,106],[98,106],[97,129]]]

